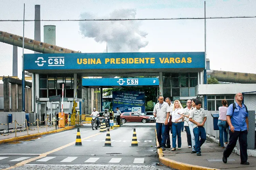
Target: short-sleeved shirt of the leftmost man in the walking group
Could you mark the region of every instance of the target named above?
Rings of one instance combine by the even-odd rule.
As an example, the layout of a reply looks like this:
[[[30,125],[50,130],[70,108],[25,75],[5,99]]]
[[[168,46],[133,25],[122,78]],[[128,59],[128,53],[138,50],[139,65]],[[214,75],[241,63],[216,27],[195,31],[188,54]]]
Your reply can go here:
[[[171,112],[168,103],[163,102],[161,107],[159,106],[159,103],[157,103],[153,111],[153,113],[156,113],[156,123],[165,123],[168,112]]]

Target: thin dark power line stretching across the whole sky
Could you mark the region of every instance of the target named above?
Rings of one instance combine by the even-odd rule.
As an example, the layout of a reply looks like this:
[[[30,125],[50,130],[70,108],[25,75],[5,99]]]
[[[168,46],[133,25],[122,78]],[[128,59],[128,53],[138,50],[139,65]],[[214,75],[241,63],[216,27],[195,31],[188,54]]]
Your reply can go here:
[[[129,18],[129,19],[0,19],[0,21],[134,21],[134,20],[179,20],[179,19],[229,19],[229,18],[256,18],[256,16],[234,16],[234,17],[185,17],[185,18]]]

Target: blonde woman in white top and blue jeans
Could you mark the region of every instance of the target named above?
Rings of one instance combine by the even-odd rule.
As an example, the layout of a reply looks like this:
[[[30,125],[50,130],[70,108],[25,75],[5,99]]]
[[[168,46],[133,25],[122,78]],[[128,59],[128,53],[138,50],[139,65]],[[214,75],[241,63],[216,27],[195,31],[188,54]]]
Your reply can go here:
[[[176,139],[178,140],[178,150],[181,150],[181,127],[184,110],[179,100],[174,101],[174,107],[172,109],[172,149],[176,150]]]

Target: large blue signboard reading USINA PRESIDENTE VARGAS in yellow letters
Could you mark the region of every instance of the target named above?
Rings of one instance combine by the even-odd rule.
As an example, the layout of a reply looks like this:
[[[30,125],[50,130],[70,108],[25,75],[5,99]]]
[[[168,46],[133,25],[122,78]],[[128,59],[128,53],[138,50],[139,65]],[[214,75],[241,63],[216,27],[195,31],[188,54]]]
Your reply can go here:
[[[25,70],[204,68],[204,52],[25,54]]]

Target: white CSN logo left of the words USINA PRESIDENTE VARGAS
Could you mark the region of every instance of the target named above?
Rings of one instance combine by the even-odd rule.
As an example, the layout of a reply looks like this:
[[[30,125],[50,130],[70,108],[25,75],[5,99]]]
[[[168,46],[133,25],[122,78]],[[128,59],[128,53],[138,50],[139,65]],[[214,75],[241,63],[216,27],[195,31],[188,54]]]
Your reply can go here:
[[[64,57],[48,57],[48,61],[45,61],[43,57],[38,57],[35,61],[39,67],[42,67],[46,62],[48,62],[48,66],[65,66]]]

